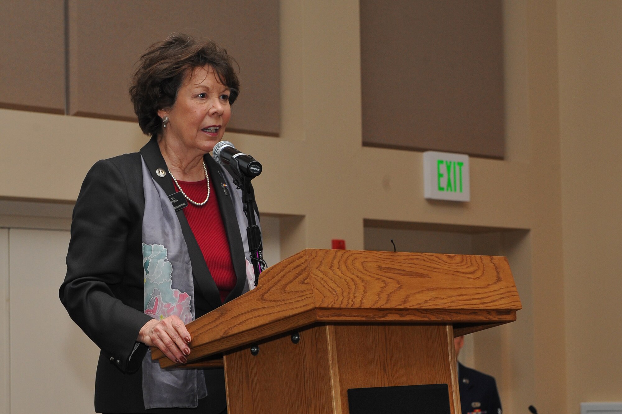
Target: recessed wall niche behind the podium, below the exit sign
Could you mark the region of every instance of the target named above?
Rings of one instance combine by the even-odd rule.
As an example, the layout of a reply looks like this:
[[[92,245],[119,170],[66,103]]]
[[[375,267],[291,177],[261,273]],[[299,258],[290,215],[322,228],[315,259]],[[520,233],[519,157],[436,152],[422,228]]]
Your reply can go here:
[[[364,220],[364,249],[400,252],[501,255],[508,257],[522,310],[516,321],[465,336],[458,360],[493,375],[501,401],[534,395],[531,235],[526,229],[439,223]],[[524,405],[524,404],[523,404]]]

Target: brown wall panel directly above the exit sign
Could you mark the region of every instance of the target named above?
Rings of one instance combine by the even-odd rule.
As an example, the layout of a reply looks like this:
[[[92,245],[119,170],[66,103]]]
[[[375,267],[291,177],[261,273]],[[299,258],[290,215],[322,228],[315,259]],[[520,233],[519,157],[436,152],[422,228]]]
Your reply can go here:
[[[498,0],[360,0],[364,145],[504,155]]]

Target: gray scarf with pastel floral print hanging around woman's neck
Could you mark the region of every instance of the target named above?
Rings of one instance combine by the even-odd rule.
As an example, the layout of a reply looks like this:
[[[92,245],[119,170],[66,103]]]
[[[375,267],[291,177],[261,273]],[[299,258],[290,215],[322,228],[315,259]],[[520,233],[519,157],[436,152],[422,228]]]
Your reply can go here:
[[[142,262],[144,266],[144,313],[155,319],[177,315],[188,324],[195,319],[194,283],[188,247],[183,238],[177,214],[162,187],[151,177],[142,159],[142,186],[145,211],[142,218]],[[223,171],[223,170],[221,170]],[[233,178],[223,171],[231,191],[236,218],[246,256],[244,292],[254,288],[253,267],[246,236],[241,191]],[[259,218],[257,223],[259,223]],[[202,369],[162,369],[147,352],[142,361],[142,395],[149,408],[196,408],[198,400],[207,397]]]

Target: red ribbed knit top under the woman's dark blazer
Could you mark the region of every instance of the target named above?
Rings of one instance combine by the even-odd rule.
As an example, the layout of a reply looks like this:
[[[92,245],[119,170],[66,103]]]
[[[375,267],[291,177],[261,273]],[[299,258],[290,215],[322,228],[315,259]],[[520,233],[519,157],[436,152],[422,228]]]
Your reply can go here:
[[[182,186],[183,192],[193,201],[201,203],[207,196],[205,180],[187,182],[177,180]],[[175,185],[175,188],[177,186]],[[237,279],[231,261],[229,241],[225,232],[225,224],[218,208],[216,191],[210,180],[210,200],[205,205],[197,207],[188,201],[188,206],[183,209],[183,214],[188,220],[190,229],[197,239],[198,246],[203,253],[205,263],[210,269],[211,277],[216,282],[220,292],[220,300],[225,301],[227,295],[233,290]]]

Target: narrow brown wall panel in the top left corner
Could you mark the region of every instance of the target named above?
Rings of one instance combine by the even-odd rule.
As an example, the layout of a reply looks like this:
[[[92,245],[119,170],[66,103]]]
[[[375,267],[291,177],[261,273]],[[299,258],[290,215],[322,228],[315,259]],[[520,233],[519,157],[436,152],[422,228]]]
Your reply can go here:
[[[65,112],[65,2],[0,3],[0,108]]]

